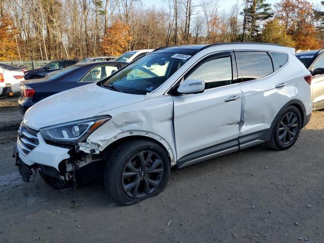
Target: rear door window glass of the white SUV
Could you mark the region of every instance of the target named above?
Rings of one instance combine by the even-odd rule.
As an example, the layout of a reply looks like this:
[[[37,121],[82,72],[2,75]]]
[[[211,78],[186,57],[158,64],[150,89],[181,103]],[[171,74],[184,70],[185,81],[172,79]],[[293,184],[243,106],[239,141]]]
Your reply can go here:
[[[240,63],[242,82],[258,79],[273,72],[271,58],[266,52],[235,52],[235,56]]]

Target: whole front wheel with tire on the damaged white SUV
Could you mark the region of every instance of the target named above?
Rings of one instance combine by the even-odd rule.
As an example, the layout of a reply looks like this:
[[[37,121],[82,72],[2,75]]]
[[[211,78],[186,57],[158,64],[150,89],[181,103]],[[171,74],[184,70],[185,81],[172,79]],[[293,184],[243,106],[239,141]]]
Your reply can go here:
[[[166,188],[170,161],[161,146],[150,140],[133,140],[116,149],[104,171],[105,188],[116,203],[136,204]]]

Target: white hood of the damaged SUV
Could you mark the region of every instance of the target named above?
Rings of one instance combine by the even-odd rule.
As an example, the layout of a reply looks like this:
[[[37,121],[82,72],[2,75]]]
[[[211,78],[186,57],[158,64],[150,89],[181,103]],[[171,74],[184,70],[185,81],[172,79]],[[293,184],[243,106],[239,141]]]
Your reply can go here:
[[[24,123],[35,130],[89,118],[120,106],[143,101],[145,95],[125,94],[90,84],[52,95],[30,107]],[[107,112],[109,114],[109,112]]]

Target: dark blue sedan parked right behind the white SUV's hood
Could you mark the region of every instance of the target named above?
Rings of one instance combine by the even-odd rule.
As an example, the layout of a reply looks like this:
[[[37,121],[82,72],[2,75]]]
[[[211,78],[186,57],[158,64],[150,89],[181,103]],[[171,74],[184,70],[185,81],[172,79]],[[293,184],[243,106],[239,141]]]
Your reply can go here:
[[[85,62],[77,63],[67,68],[49,73],[44,78],[25,80],[21,82],[21,96],[18,100],[19,110],[22,114],[37,103],[64,90],[98,82],[119,68],[125,62]]]

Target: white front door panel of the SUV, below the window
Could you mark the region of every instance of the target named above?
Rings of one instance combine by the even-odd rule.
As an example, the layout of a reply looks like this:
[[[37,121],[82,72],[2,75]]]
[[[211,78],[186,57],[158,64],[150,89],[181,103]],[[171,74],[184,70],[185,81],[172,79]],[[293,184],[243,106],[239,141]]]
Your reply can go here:
[[[238,137],[241,109],[238,84],[175,96],[174,126],[178,159]],[[238,99],[225,102],[226,99]]]

